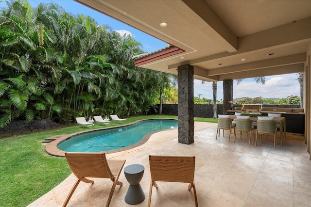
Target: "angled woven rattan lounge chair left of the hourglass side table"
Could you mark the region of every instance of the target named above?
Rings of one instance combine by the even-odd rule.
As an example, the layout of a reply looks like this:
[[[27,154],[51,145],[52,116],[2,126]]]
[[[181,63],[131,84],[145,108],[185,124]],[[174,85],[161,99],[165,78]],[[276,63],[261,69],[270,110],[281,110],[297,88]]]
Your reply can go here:
[[[86,177],[99,177],[110,178],[113,182],[110,194],[106,203],[106,207],[109,207],[113,192],[116,185],[122,185],[118,181],[121,174],[124,159],[106,159],[104,153],[65,153],[69,167],[78,180],[70,190],[63,207],[66,207],[73,192],[76,190],[80,181],[86,183],[94,183],[93,180],[86,179]]]

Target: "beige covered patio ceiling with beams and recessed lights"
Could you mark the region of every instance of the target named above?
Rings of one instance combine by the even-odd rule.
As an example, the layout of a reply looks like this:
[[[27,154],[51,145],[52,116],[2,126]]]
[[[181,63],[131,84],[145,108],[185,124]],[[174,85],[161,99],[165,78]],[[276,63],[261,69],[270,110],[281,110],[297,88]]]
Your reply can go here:
[[[199,80],[303,72],[311,43],[310,0],[76,1],[181,49],[140,67],[177,74],[191,64]]]

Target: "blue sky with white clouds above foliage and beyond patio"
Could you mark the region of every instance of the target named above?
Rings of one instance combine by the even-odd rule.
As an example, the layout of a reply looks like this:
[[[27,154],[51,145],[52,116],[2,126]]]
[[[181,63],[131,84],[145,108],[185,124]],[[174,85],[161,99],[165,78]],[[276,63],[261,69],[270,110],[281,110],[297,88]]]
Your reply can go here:
[[[94,11],[80,3],[73,0],[28,0],[33,7],[37,7],[40,2],[49,3],[54,2],[63,7],[67,12],[75,14],[84,14],[91,16],[101,25],[108,25],[115,31],[123,31],[131,33],[134,38],[142,44],[142,49],[146,52],[153,52],[161,48],[165,48],[167,43],[156,39],[144,32],[136,30],[118,20],[109,16],[105,16],[97,11]],[[4,4],[2,2],[1,4]],[[1,5],[2,6],[2,5]],[[266,83],[264,85],[256,84],[253,79],[245,79],[242,83],[237,85],[234,81],[233,98],[240,97],[263,97],[263,98],[286,98],[287,96],[300,96],[300,85],[298,82],[299,75],[287,74],[278,76],[265,77]],[[213,98],[212,83],[205,82],[202,84],[201,80],[194,80],[194,96]],[[199,97],[199,96],[198,96]],[[217,84],[217,99],[223,99],[223,82],[219,81]]]

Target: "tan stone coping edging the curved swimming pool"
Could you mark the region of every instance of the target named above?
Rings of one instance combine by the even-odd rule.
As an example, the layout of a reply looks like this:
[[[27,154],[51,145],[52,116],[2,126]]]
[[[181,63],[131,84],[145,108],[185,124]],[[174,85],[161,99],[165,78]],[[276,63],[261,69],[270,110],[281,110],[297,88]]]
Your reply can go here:
[[[82,134],[82,133],[89,132],[89,131],[98,131],[98,130],[104,130],[104,129],[109,129],[109,128],[119,128],[119,127],[133,125],[133,124],[136,124],[136,123],[141,122],[141,121],[156,120],[156,119],[176,120],[176,119],[169,119],[169,118],[141,119],[141,120],[135,121],[135,122],[130,123],[130,124],[123,124],[123,125],[116,126],[116,127],[106,127],[106,128],[102,128],[102,129],[98,129],[98,128],[97,129],[89,129],[89,130],[86,130],[86,131],[75,132],[75,133],[72,133],[72,134],[56,135],[56,136],[52,136],[52,137],[46,139],[46,140],[50,139],[50,140],[52,140],[52,142],[48,143],[45,146],[44,150],[49,155],[52,155],[52,156],[55,156],[55,157],[65,157],[65,152],[66,151],[58,149],[57,148],[57,144],[62,142],[63,140],[69,139],[73,135]],[[151,137],[151,135],[153,135],[153,134],[155,134],[155,133],[157,133],[159,131],[172,130],[172,129],[174,129],[174,128],[168,128],[168,129],[152,131],[152,132],[149,132],[149,133],[145,134],[141,138],[141,140],[139,140],[137,143],[132,144],[130,146],[123,147],[123,148],[120,148],[120,149],[113,149],[113,150],[109,150],[109,151],[99,151],[99,152],[104,152],[105,154],[111,154],[111,153],[122,152],[122,151],[125,151],[125,150],[133,149],[135,147],[138,147],[138,146],[146,143],[149,140],[149,138]]]

